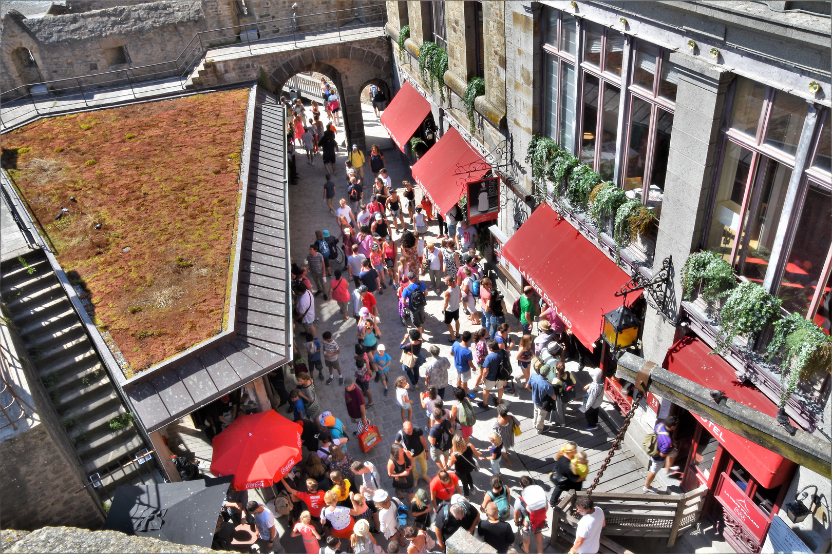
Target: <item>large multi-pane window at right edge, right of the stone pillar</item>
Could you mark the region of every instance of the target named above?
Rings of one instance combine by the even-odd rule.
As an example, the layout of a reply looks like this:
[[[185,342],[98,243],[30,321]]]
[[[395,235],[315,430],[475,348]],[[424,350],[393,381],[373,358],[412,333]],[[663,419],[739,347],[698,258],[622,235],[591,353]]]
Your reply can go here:
[[[804,131],[809,104],[743,77],[732,85],[705,246],[783,307],[830,331],[830,114]],[[805,166],[795,167],[801,138]],[[797,194],[789,194],[795,171]],[[785,217],[784,214],[790,214]]]

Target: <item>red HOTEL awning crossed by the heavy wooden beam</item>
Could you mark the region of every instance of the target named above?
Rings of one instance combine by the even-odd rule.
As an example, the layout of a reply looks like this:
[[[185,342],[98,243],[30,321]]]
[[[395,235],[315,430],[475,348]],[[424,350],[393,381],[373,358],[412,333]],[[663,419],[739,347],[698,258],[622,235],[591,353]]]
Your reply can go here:
[[[734,368],[720,355],[710,355],[711,348],[699,338],[686,336],[667,351],[666,370],[712,389],[724,390],[730,400],[745,404],[761,414],[775,417],[777,406],[753,385],[745,385],[737,379]],[[691,413],[692,414],[692,413]],[[755,478],[761,487],[772,488],[791,478],[795,463],[780,454],[771,452],[759,444],[752,443],[740,435],[722,429],[699,415],[705,428],[722,444],[742,467]]]

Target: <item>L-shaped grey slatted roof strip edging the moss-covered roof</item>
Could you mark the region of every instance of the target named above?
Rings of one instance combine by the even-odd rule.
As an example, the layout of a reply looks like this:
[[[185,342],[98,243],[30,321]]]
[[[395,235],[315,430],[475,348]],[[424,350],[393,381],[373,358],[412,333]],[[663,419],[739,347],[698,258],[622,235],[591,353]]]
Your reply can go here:
[[[125,386],[149,433],[290,360],[285,157],[285,108],[275,96],[257,91],[236,337],[141,385]]]

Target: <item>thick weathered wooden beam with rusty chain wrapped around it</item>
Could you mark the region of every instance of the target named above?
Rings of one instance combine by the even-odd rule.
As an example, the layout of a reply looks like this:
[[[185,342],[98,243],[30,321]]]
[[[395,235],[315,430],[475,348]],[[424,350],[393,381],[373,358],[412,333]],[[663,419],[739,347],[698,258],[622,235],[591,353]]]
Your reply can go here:
[[[647,360],[644,358],[627,352],[618,360],[616,376],[635,383],[638,370],[646,363]],[[717,404],[711,399],[710,391],[706,387],[661,367],[653,368],[649,387],[653,394],[670,400],[677,406],[709,419],[732,433],[815,473],[832,478],[832,453],[829,442],[806,433],[803,429],[797,429],[795,435],[791,436],[775,418],[745,404],[730,399]]]

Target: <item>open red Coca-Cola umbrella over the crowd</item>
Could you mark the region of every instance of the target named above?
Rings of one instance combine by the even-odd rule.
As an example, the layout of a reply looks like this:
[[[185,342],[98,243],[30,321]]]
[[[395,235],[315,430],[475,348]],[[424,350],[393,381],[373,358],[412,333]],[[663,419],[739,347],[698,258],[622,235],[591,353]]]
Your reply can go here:
[[[300,462],[301,429],[274,409],[240,415],[214,437],[210,473],[234,475],[238,491],[269,487]]]

